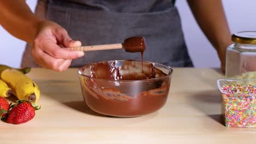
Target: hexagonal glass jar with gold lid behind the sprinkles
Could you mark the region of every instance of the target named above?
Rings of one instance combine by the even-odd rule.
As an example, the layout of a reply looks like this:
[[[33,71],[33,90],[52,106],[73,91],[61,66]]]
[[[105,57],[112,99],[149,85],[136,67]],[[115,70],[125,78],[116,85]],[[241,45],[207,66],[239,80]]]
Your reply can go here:
[[[256,31],[232,34],[226,50],[226,78],[256,79]]]

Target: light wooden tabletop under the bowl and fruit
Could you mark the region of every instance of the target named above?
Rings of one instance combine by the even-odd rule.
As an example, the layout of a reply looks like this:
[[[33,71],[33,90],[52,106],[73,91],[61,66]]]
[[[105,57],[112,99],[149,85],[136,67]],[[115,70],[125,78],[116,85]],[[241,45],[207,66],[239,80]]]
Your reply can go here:
[[[174,68],[167,103],[158,112],[114,118],[85,105],[78,69],[28,74],[41,96],[36,116],[19,125],[0,122],[0,143],[255,143],[255,128],[226,128],[220,119],[218,69]],[[9,98],[14,101],[15,98]]]

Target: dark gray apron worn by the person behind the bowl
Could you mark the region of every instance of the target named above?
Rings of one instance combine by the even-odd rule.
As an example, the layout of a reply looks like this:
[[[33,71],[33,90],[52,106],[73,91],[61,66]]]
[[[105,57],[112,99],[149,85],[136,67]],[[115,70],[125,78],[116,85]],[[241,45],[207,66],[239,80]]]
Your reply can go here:
[[[193,67],[181,20],[171,0],[49,0],[45,17],[61,25],[72,39],[82,41],[83,45],[123,43],[126,38],[142,36],[147,47],[144,61]],[[118,59],[141,60],[141,53],[123,49],[88,51],[84,57],[73,59],[71,67]],[[24,52],[22,67],[38,67],[31,57],[30,45]]]

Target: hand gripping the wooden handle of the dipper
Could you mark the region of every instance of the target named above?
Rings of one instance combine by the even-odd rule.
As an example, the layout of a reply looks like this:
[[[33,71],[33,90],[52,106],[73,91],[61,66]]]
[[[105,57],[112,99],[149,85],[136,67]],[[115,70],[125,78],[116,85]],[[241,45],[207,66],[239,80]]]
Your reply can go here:
[[[66,70],[72,59],[84,56],[82,51],[69,51],[64,47],[81,46],[80,41],[72,40],[67,31],[55,22],[41,21],[32,45],[32,56],[45,69]]]

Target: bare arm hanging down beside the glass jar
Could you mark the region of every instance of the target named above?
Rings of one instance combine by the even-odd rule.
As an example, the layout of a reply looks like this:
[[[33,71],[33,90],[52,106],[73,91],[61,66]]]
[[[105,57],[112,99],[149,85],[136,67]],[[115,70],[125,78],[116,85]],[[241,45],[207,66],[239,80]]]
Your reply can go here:
[[[221,0],[187,0],[194,17],[215,47],[225,70],[226,47],[232,43]]]

